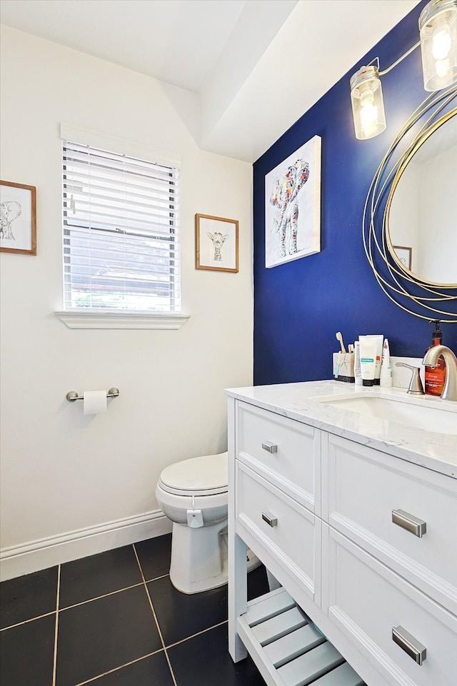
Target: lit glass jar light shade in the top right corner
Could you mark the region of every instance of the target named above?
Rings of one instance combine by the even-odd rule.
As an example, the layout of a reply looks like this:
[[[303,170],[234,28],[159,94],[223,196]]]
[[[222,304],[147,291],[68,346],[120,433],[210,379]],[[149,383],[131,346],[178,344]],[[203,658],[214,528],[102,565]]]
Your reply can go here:
[[[457,81],[457,0],[432,0],[419,17],[423,87],[440,91]]]

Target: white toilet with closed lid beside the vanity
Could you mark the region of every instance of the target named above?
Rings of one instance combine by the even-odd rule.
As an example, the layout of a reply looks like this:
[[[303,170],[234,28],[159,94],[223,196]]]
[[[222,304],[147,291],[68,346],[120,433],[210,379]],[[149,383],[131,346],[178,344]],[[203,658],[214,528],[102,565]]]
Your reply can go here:
[[[227,455],[203,455],[166,467],[156,498],[173,522],[170,580],[198,593],[227,582]],[[248,570],[260,563],[248,550]]]

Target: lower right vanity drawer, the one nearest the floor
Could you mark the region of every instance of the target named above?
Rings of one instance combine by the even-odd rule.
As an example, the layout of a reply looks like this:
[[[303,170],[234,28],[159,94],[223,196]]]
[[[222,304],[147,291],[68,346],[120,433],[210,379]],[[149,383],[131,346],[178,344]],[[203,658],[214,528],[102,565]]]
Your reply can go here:
[[[392,686],[455,686],[457,617],[331,527],[322,533],[323,609],[331,621]],[[419,665],[411,655],[423,648]]]

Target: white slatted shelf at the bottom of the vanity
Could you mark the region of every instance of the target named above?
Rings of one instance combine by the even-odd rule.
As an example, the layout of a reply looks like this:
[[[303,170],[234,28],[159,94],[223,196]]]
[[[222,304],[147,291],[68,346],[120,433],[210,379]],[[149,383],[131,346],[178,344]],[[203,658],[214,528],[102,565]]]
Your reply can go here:
[[[364,686],[282,588],[248,602],[238,634],[267,686]]]

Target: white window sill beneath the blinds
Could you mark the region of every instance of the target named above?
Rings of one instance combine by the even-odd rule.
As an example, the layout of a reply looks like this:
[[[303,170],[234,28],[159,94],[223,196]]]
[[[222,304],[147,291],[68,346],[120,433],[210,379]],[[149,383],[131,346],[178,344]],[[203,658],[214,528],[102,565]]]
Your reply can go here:
[[[179,329],[190,315],[165,312],[60,310],[54,313],[69,328]]]

